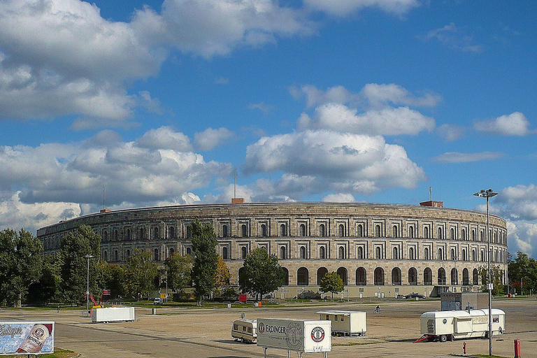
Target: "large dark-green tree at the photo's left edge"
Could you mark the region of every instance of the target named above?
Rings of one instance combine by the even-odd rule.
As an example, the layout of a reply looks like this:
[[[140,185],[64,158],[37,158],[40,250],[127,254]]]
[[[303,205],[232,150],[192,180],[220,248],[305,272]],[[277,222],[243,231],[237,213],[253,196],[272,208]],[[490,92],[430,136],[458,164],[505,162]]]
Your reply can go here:
[[[41,277],[43,245],[24,229],[0,231],[0,297],[20,307],[28,287]]]

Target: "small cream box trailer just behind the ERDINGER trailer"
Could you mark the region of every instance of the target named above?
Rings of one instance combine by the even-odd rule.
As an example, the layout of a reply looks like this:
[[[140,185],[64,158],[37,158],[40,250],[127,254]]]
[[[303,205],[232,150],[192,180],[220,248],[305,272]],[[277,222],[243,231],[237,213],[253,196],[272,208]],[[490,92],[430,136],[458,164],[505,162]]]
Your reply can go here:
[[[365,336],[367,315],[358,310],[320,310],[320,320],[332,322],[332,335]]]

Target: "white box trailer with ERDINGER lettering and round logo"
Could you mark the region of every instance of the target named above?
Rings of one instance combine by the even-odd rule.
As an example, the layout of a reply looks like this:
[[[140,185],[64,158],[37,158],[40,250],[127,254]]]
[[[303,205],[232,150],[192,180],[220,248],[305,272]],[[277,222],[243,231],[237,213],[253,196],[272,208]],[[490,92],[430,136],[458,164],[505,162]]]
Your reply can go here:
[[[303,353],[322,352],[328,357],[332,350],[331,321],[291,320],[281,318],[257,318],[257,345],[263,348],[266,358],[268,348]]]

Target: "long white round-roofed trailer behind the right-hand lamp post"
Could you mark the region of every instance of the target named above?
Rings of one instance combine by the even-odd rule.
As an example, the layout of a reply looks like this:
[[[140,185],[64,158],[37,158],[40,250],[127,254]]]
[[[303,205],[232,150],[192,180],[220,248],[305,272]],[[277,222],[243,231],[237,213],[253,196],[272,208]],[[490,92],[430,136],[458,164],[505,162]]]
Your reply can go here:
[[[423,313],[420,317],[422,339],[448,339],[485,337],[489,332],[489,310],[443,310]],[[492,335],[506,330],[506,313],[492,309]]]

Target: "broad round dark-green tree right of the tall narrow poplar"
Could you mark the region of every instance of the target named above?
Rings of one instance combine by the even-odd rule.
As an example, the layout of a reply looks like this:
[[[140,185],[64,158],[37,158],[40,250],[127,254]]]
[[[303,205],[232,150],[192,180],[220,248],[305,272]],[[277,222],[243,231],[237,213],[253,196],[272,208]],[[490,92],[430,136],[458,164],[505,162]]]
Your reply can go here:
[[[255,294],[262,299],[264,294],[278,289],[285,280],[285,272],[278,264],[276,255],[268,255],[264,248],[257,248],[246,255],[238,285],[243,292]]]

